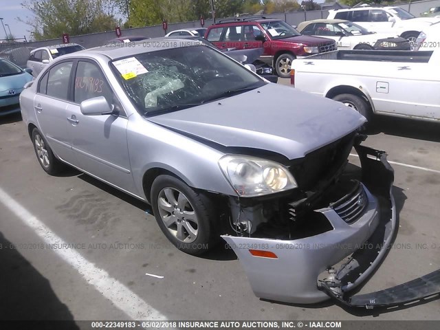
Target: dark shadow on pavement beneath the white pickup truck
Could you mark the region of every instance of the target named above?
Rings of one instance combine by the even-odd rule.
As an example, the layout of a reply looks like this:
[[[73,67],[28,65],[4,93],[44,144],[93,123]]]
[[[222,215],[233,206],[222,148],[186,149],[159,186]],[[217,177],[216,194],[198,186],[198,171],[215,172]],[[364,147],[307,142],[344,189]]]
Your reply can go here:
[[[408,137],[410,139],[440,142],[440,120],[422,121],[411,118],[396,118],[385,115],[376,115],[373,118],[369,135],[384,133]]]

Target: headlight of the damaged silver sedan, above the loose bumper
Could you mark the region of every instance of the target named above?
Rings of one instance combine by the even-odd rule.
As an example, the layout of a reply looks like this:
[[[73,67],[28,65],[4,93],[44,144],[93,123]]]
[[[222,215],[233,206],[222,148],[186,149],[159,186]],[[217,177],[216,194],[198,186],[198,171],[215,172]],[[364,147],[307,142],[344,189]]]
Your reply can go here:
[[[244,155],[225,155],[219,166],[234,190],[243,197],[273,194],[298,187],[285,166]]]

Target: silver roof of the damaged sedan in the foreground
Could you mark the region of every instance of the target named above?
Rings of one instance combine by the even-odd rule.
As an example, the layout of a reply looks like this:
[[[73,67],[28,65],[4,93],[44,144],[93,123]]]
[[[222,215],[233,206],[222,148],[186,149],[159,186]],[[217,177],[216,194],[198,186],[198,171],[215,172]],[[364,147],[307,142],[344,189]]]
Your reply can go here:
[[[175,42],[173,42],[175,41]],[[63,58],[78,57],[78,56],[107,56],[112,61],[116,58],[135,56],[148,52],[157,52],[159,50],[167,50],[171,48],[187,47],[202,45],[200,41],[174,39],[170,37],[161,37],[155,39],[148,39],[146,41],[134,41],[133,47],[109,47],[103,45],[99,47],[89,48],[87,50],[80,50],[71,54],[63,55]],[[207,46],[206,46],[207,47]]]

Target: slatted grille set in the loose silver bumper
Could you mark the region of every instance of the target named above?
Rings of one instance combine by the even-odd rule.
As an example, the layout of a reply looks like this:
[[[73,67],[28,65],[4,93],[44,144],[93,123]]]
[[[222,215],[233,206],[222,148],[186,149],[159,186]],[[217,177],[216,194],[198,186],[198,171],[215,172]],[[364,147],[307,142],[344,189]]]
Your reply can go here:
[[[347,223],[353,223],[360,218],[368,205],[368,197],[364,186],[358,183],[355,188],[330,207]]]

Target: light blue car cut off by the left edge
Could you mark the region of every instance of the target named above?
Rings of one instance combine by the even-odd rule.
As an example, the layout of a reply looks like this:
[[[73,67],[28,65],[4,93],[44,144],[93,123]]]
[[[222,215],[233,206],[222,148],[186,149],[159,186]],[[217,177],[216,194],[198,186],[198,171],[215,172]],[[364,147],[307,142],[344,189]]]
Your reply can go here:
[[[19,97],[24,85],[32,80],[31,72],[0,58],[0,117],[20,112]]]

